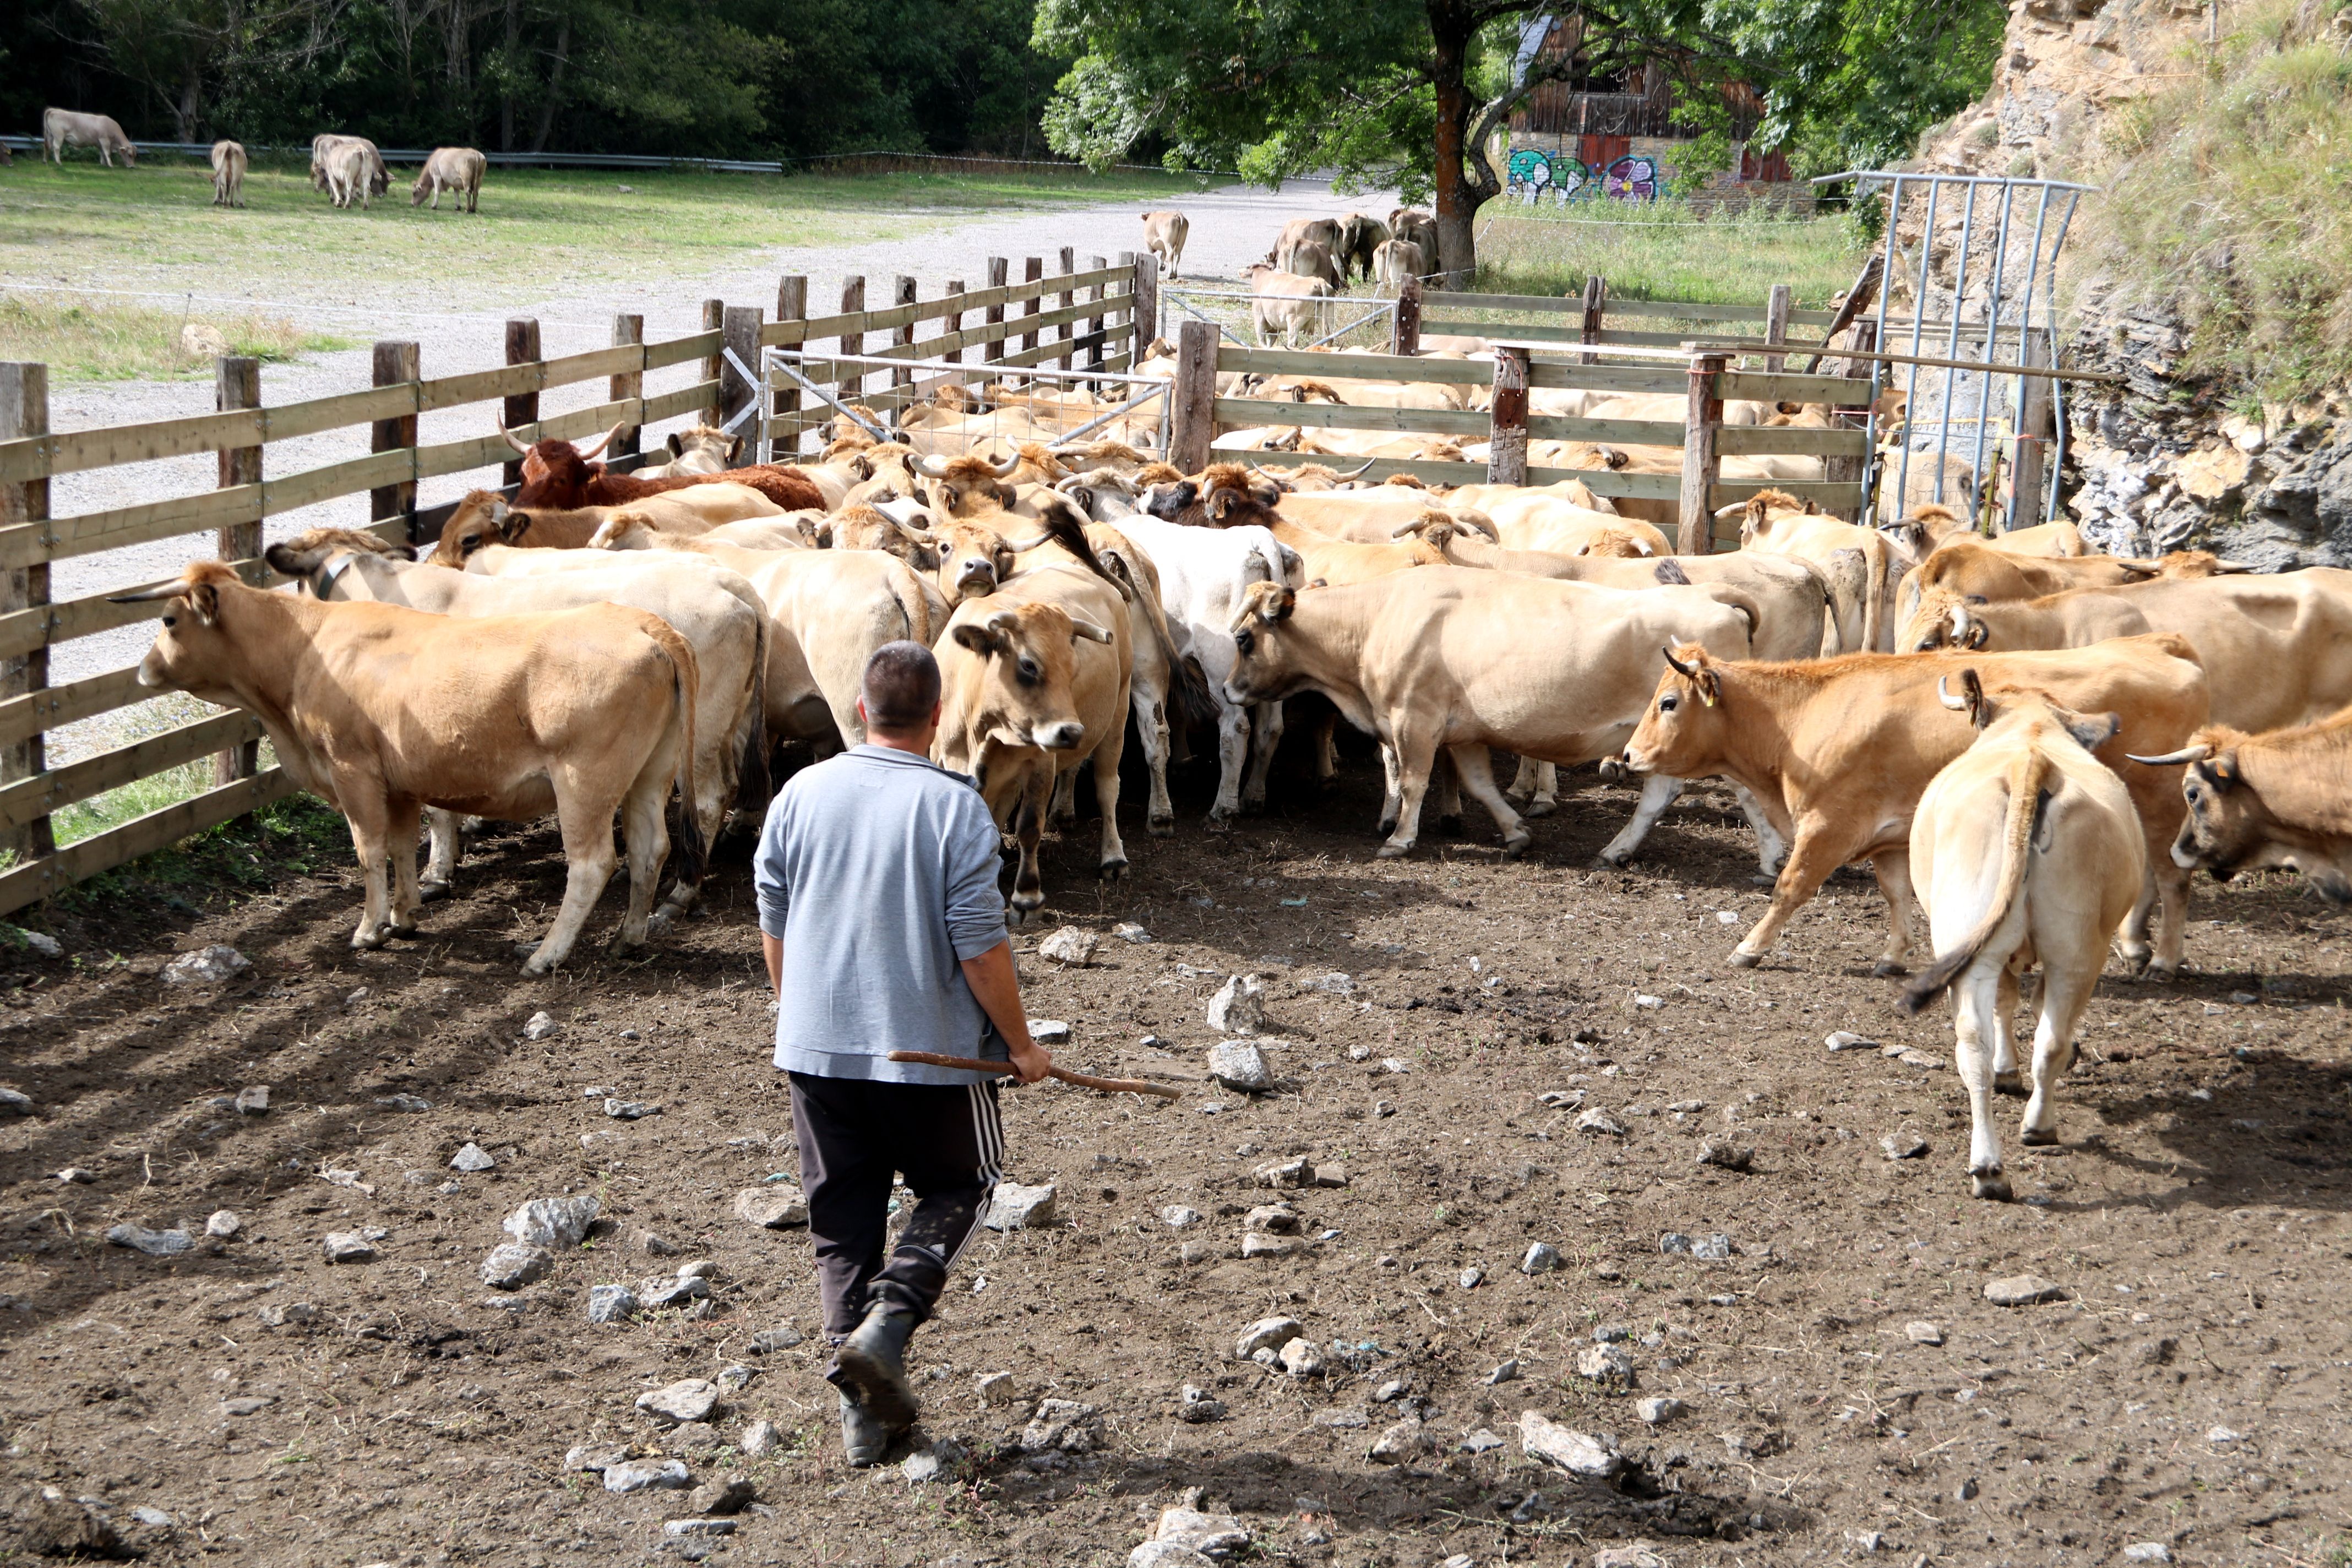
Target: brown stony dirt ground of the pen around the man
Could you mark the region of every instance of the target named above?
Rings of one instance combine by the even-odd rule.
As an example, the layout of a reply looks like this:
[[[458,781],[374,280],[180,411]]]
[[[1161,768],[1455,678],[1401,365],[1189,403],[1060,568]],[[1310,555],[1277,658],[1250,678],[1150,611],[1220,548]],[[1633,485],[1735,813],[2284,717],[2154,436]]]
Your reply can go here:
[[[795,1171],[741,842],[663,947],[548,980],[520,978],[510,943],[560,896],[553,830],[487,842],[423,938],[386,952],[346,947],[348,853],[233,907],[129,889],[49,917],[68,959],[12,954],[0,1020],[0,1084],[33,1100],[0,1110],[0,1505],[19,1547],[26,1521],[103,1519],[151,1563],[1115,1566],[1200,1488],[1265,1563],[2352,1552],[2352,919],[2300,882],[2201,882],[2192,973],[2110,976],[2063,1143],[2020,1150],[2023,1103],[2002,1100],[2004,1206],[1966,1197],[1947,1023],[1900,1018],[1867,978],[1867,879],[1835,879],[1762,969],[1724,964],[1764,898],[1726,797],[1693,792],[1642,863],[1595,872],[1632,797],[1590,780],[1508,865],[1482,820],[1374,860],[1362,757],[1319,802],[1277,771],[1287,809],[1230,835],[1200,827],[1207,783],[1181,778],[1174,839],[1138,813],[1124,884],[1089,879],[1091,825],[1049,849],[1047,926],[1016,938],[1033,1016],[1075,1025],[1065,1060],[1185,1093],[1007,1091],[1009,1175],[1054,1182],[1058,1220],[974,1244],[915,1340],[922,1436],[964,1450],[931,1481],[844,1465],[807,1232],[734,1213],[739,1190]],[[609,891],[590,931],[616,910]],[[1054,922],[1152,940],[1056,973],[1033,952]],[[207,943],[252,971],[160,978]],[[1270,999],[1279,1086],[1261,1098],[1202,1081],[1204,1004],[1235,971]],[[557,1030],[529,1041],[539,1011]],[[1832,1056],[1832,1030],[1933,1065]],[[266,1114],[226,1105],[254,1084]],[[661,1112],[609,1119],[586,1091]],[[1576,1131],[1585,1107],[1623,1135]],[[1903,1133],[1929,1152],[1889,1159]],[[1698,1164],[1710,1135],[1752,1147],[1752,1168]],[[466,1143],[496,1168],[452,1171]],[[1345,1185],[1256,1185],[1291,1157]],[[600,1234],[520,1293],[485,1288],[501,1218],[557,1194],[595,1194]],[[1298,1246],[1244,1260],[1244,1211],[1275,1199],[1303,1215],[1282,1237]],[[1174,1229],[1167,1206],[1202,1220]],[[219,1208],[242,1227],[207,1244]],[[198,1246],[108,1246],[118,1222],[186,1225]],[[383,1232],[374,1262],[325,1260],[327,1232],[365,1227]],[[1663,1253],[1668,1232],[1733,1251]],[[1519,1272],[1536,1241],[1557,1269]],[[710,1307],[588,1321],[588,1286],[687,1260],[715,1265]],[[2016,1274],[2063,1298],[1990,1305],[1985,1284]],[[1235,1359],[1265,1316],[1296,1316],[1327,1371]],[[1581,1378],[1621,1331],[1632,1387]],[[1508,1361],[1517,1378],[1494,1380]],[[727,1368],[748,1382],[708,1425],[633,1408]],[[993,1373],[1014,1401],[981,1399]],[[1178,1420],[1185,1385],[1223,1420]],[[1656,1396],[1682,1410],[1646,1425]],[[1091,1450],[1023,1453],[1040,1399],[1094,1406]],[[1414,1410],[1402,1462],[1369,1460]],[[1618,1481],[1524,1458],[1522,1410],[1613,1439]],[[781,1429],[764,1458],[743,1450],[757,1420]],[[1479,1432],[1503,1441],[1465,1450]],[[668,1537],[684,1493],[612,1495],[567,1472],[574,1446],[675,1453],[757,1502],[734,1535]]]

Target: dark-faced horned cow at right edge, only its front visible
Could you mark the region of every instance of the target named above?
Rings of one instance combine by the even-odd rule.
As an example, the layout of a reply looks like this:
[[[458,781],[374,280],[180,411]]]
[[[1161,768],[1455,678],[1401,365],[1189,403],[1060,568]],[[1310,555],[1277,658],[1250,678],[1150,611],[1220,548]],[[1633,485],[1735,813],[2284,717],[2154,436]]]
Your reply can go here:
[[[2150,766],[2180,766],[2187,818],[2173,865],[2216,882],[2281,865],[2333,905],[2352,905],[2352,708],[2317,724],[2249,736],[2201,729]]]

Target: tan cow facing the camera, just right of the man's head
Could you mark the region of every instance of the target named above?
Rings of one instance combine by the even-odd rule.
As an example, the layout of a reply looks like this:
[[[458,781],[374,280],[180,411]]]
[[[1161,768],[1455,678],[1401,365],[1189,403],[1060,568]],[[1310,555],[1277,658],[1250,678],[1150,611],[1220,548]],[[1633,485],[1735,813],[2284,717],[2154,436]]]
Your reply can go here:
[[[1134,646],[1127,604],[1075,567],[1023,571],[985,599],[967,599],[938,639],[941,719],[931,757],[981,783],[997,827],[1021,846],[1011,914],[1044,903],[1037,842],[1058,780],[1094,766],[1103,811],[1101,877],[1127,875],[1120,842],[1120,752]],[[1075,804],[1073,804],[1075,813]]]

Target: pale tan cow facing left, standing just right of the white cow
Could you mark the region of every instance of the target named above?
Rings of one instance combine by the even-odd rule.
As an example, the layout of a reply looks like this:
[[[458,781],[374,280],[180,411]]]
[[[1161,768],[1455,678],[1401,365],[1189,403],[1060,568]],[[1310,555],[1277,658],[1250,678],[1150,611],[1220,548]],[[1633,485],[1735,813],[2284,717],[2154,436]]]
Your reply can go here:
[[[1225,696],[1319,691],[1381,743],[1381,858],[1411,853],[1439,750],[1517,856],[1534,835],[1496,790],[1489,748],[1562,766],[1606,757],[1642,717],[1668,642],[1740,656],[1748,628],[1748,611],[1700,588],[1618,592],[1463,567],[1305,592],[1251,583]]]

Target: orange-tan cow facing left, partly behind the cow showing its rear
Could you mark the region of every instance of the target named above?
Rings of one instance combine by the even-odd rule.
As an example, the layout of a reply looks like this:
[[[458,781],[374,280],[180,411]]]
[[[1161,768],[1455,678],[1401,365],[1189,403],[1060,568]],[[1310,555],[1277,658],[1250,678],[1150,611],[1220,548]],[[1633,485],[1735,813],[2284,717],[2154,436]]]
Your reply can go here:
[[[2161,893],[2164,924],[2150,969],[2166,976],[2180,969],[2187,875],[2171,863],[2157,865],[2180,823],[2180,792],[2129,757],[2173,750],[2206,722],[2204,668],[2190,639],[2176,635],[2063,654],[1846,654],[1792,665],[1722,663],[1677,649],[1625,743],[1625,766],[1672,778],[1731,778],[1790,839],[1771,907],[1731,950],[1733,966],[1755,969],[1830,872],[1867,858],[1889,919],[1875,973],[1903,973],[1912,947],[1912,813],[1929,780],[1976,736],[1936,698],[1936,682],[1959,679],[1966,668],[1987,684],[2030,686],[2077,712],[2122,715],[2124,726],[2100,748],[2100,762],[2131,790],[2154,870],[2154,889],[2143,891],[2124,924],[2122,947],[2133,966],[2150,961],[2147,917]]]

